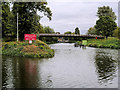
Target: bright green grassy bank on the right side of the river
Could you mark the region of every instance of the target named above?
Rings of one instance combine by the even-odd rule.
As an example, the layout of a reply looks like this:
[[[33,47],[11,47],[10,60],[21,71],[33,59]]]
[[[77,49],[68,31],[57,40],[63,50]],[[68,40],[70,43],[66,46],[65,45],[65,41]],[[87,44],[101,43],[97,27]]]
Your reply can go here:
[[[117,38],[89,39],[87,46],[96,48],[120,49],[120,40]]]

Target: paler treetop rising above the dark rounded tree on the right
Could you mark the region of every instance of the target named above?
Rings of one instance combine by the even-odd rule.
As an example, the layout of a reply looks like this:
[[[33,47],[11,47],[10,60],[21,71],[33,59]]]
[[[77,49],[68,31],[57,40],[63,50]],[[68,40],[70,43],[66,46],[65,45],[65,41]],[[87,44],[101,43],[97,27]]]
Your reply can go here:
[[[116,20],[116,15],[113,12],[112,8],[110,8],[109,6],[98,7],[97,16],[99,18],[102,17],[102,16],[109,16],[114,21]]]

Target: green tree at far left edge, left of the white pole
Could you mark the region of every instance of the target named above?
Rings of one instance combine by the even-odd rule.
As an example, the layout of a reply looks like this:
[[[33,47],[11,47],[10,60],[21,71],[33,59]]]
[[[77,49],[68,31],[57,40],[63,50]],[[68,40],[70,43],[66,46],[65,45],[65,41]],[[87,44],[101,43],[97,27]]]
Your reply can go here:
[[[12,13],[10,12],[9,2],[2,2],[2,38],[8,38],[8,36],[14,36],[14,31],[12,30]]]

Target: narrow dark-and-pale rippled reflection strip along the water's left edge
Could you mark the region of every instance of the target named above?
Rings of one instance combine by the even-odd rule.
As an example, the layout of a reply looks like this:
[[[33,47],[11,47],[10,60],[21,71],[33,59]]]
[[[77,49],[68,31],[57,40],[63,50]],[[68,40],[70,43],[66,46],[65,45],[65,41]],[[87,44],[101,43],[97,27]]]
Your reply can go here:
[[[12,88],[14,87],[14,79],[13,79],[13,67],[12,60],[9,57],[2,56],[2,87]]]

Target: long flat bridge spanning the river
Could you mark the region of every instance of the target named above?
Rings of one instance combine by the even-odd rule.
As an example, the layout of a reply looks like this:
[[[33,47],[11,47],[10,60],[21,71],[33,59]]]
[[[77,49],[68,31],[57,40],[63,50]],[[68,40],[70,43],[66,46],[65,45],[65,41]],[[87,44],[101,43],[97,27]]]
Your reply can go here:
[[[79,35],[79,34],[39,34],[39,37],[81,37],[81,38],[98,38],[104,39],[103,36],[97,35]]]

